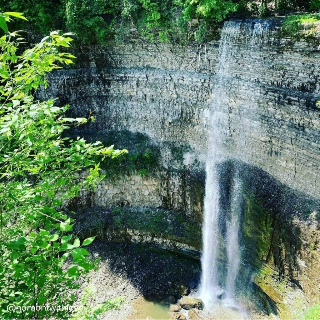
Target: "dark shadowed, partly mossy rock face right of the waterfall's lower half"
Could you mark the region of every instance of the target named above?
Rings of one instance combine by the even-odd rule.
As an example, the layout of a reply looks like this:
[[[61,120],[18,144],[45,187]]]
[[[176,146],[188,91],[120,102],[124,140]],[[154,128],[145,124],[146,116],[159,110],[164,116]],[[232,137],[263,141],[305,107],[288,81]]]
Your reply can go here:
[[[316,223],[320,202],[237,160],[223,163],[220,170],[220,201],[227,204],[224,206],[226,217],[230,215],[230,186],[236,173],[242,180],[239,287],[251,285],[258,289],[252,282],[252,276],[258,274],[262,278],[270,278],[271,285],[277,286],[285,280],[303,290],[298,276],[301,271],[298,257],[303,249],[300,226]],[[222,233],[225,232],[225,224],[222,222],[220,226]],[[271,300],[267,298],[272,312],[276,313],[272,297]]]

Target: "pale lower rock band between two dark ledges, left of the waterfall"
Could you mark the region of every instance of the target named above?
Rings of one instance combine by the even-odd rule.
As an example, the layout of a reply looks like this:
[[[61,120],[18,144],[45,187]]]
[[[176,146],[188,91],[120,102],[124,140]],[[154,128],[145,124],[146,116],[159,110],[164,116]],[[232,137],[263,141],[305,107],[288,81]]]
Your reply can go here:
[[[202,220],[203,198],[203,179],[199,180],[188,171],[159,171],[149,176],[132,173],[105,179],[93,192],[81,192],[69,207],[158,207],[183,212],[188,220],[199,222]]]

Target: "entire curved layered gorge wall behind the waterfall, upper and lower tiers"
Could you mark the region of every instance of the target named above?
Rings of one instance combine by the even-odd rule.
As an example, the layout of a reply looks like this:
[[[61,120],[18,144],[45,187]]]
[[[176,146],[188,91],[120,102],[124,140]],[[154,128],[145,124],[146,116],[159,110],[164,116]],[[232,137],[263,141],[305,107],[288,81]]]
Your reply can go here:
[[[245,172],[244,265],[258,270],[254,283],[282,317],[290,317],[290,295],[308,305],[320,292],[320,38],[285,37],[280,26],[280,19],[272,20],[262,50],[254,52],[240,33],[228,68],[228,107],[221,110],[224,149],[232,160],[221,170],[226,185],[235,165]],[[198,55],[196,43],[150,43],[130,32],[120,42],[78,48],[75,68],[53,73],[49,90],[40,95],[70,104],[70,115],[94,111],[95,122],[76,132],[88,140],[104,141],[109,132],[142,133],[159,150],[157,169],[104,180],[69,207],[85,215],[91,208],[97,217],[87,232],[102,238],[121,231],[122,239],[159,244],[160,234],[171,248],[197,251],[218,40],[208,40]],[[113,143],[125,148],[128,141]],[[115,207],[133,209],[119,214]],[[139,214],[151,226],[140,233],[133,219]],[[159,223],[166,227],[155,228]]]

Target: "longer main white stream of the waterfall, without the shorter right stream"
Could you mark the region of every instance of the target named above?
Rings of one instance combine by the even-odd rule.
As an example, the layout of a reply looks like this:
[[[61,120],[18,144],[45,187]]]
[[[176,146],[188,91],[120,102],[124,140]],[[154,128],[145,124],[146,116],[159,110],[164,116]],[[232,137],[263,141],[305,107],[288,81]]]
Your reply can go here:
[[[228,62],[232,49],[239,35],[241,22],[226,21],[219,43],[217,81],[214,87],[212,104],[215,112],[211,115],[209,152],[206,161],[206,186],[204,199],[203,253],[201,257],[202,278],[200,295],[206,306],[217,297],[217,253],[219,247],[220,190],[218,164],[223,160],[224,152],[221,141],[220,117],[223,117],[222,89],[227,81]]]

